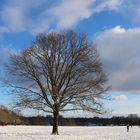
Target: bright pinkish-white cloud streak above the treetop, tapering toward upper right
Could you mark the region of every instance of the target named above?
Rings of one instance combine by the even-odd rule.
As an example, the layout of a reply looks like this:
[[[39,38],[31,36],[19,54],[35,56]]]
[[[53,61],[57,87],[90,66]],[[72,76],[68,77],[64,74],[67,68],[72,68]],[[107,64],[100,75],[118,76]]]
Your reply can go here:
[[[95,13],[105,10],[117,10],[120,0],[62,0],[52,7],[51,14],[58,21],[59,28],[70,28],[83,19],[88,19]]]

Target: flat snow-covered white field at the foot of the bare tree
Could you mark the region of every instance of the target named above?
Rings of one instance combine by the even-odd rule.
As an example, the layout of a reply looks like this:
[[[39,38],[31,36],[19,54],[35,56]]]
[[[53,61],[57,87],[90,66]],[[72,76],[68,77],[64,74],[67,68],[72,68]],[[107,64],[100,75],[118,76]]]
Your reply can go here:
[[[140,128],[125,126],[60,126],[60,135],[50,135],[50,126],[0,126],[0,140],[140,140]]]

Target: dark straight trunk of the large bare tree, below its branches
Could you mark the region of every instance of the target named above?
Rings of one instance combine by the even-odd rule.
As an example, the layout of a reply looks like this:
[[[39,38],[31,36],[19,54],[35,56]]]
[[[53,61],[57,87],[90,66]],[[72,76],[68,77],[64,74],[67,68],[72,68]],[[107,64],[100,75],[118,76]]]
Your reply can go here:
[[[58,135],[58,119],[59,119],[59,112],[54,111],[53,112],[53,129],[52,129],[52,135]]]

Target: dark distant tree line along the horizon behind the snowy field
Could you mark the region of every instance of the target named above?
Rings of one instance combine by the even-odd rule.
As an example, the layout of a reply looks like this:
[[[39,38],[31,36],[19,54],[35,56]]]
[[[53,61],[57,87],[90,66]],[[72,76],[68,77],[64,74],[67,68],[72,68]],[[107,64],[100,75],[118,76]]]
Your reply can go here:
[[[34,116],[25,117],[2,107],[0,109],[0,125],[52,125],[53,117]],[[113,116],[111,118],[64,118],[59,116],[59,125],[64,126],[123,126],[123,125],[139,125],[140,117],[136,114],[130,114],[127,117]]]

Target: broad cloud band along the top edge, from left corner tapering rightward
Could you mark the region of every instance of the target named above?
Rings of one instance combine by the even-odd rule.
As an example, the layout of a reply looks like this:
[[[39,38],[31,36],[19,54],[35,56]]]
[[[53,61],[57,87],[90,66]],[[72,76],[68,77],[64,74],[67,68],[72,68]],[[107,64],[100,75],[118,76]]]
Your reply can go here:
[[[9,32],[45,32],[71,28],[93,14],[116,10],[120,0],[6,0],[0,17]]]

